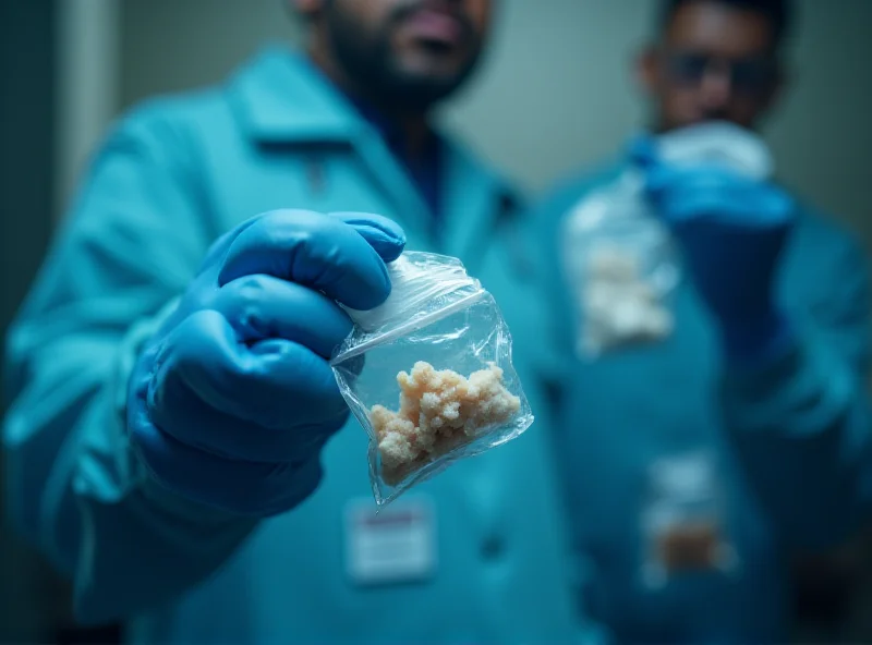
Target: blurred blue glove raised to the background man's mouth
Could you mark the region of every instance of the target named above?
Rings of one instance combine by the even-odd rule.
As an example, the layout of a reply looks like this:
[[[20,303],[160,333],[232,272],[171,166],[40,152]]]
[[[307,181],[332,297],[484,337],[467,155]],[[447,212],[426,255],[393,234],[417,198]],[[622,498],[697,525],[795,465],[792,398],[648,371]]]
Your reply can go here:
[[[644,170],[649,200],[683,251],[727,358],[753,364],[789,348],[775,280],[796,217],[790,196],[724,167],[664,163],[649,137],[633,143],[631,159]]]

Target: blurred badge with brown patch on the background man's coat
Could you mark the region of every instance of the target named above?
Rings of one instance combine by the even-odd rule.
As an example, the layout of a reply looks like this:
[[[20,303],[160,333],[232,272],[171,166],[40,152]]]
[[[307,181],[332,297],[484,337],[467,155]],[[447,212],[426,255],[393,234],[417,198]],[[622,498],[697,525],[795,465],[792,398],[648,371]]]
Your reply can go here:
[[[662,587],[686,573],[736,571],[723,486],[711,453],[691,452],[652,464],[642,537],[642,580],[649,587]]]

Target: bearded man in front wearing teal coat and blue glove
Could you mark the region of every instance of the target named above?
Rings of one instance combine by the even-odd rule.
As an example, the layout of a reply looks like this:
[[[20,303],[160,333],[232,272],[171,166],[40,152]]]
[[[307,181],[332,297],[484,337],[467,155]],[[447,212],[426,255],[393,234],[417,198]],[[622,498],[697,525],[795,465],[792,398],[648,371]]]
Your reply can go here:
[[[305,54],[137,106],[94,157],[8,341],[13,520],[133,642],[578,642],[546,433],[376,522],[327,364],[336,301],[384,301],[407,246],[492,290],[523,378],[514,194],[428,118],[491,2],[293,5]]]

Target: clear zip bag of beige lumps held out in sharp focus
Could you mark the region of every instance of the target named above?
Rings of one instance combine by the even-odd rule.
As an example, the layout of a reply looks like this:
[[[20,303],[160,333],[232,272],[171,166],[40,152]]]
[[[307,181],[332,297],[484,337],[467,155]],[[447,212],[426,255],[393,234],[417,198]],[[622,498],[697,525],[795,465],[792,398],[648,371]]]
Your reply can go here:
[[[390,297],[349,312],[354,330],[331,361],[370,436],[378,506],[533,423],[509,329],[460,260],[407,252],[388,271]]]

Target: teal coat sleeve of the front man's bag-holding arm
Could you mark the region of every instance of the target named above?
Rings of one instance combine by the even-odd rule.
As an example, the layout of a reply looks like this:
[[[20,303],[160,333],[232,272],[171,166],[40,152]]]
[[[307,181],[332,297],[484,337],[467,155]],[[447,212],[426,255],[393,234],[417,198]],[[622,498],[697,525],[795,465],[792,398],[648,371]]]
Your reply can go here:
[[[159,110],[109,137],[8,338],[12,520],[74,583],[83,622],[160,605],[253,522],[160,489],[128,445],[128,378],[208,247],[183,133]]]

